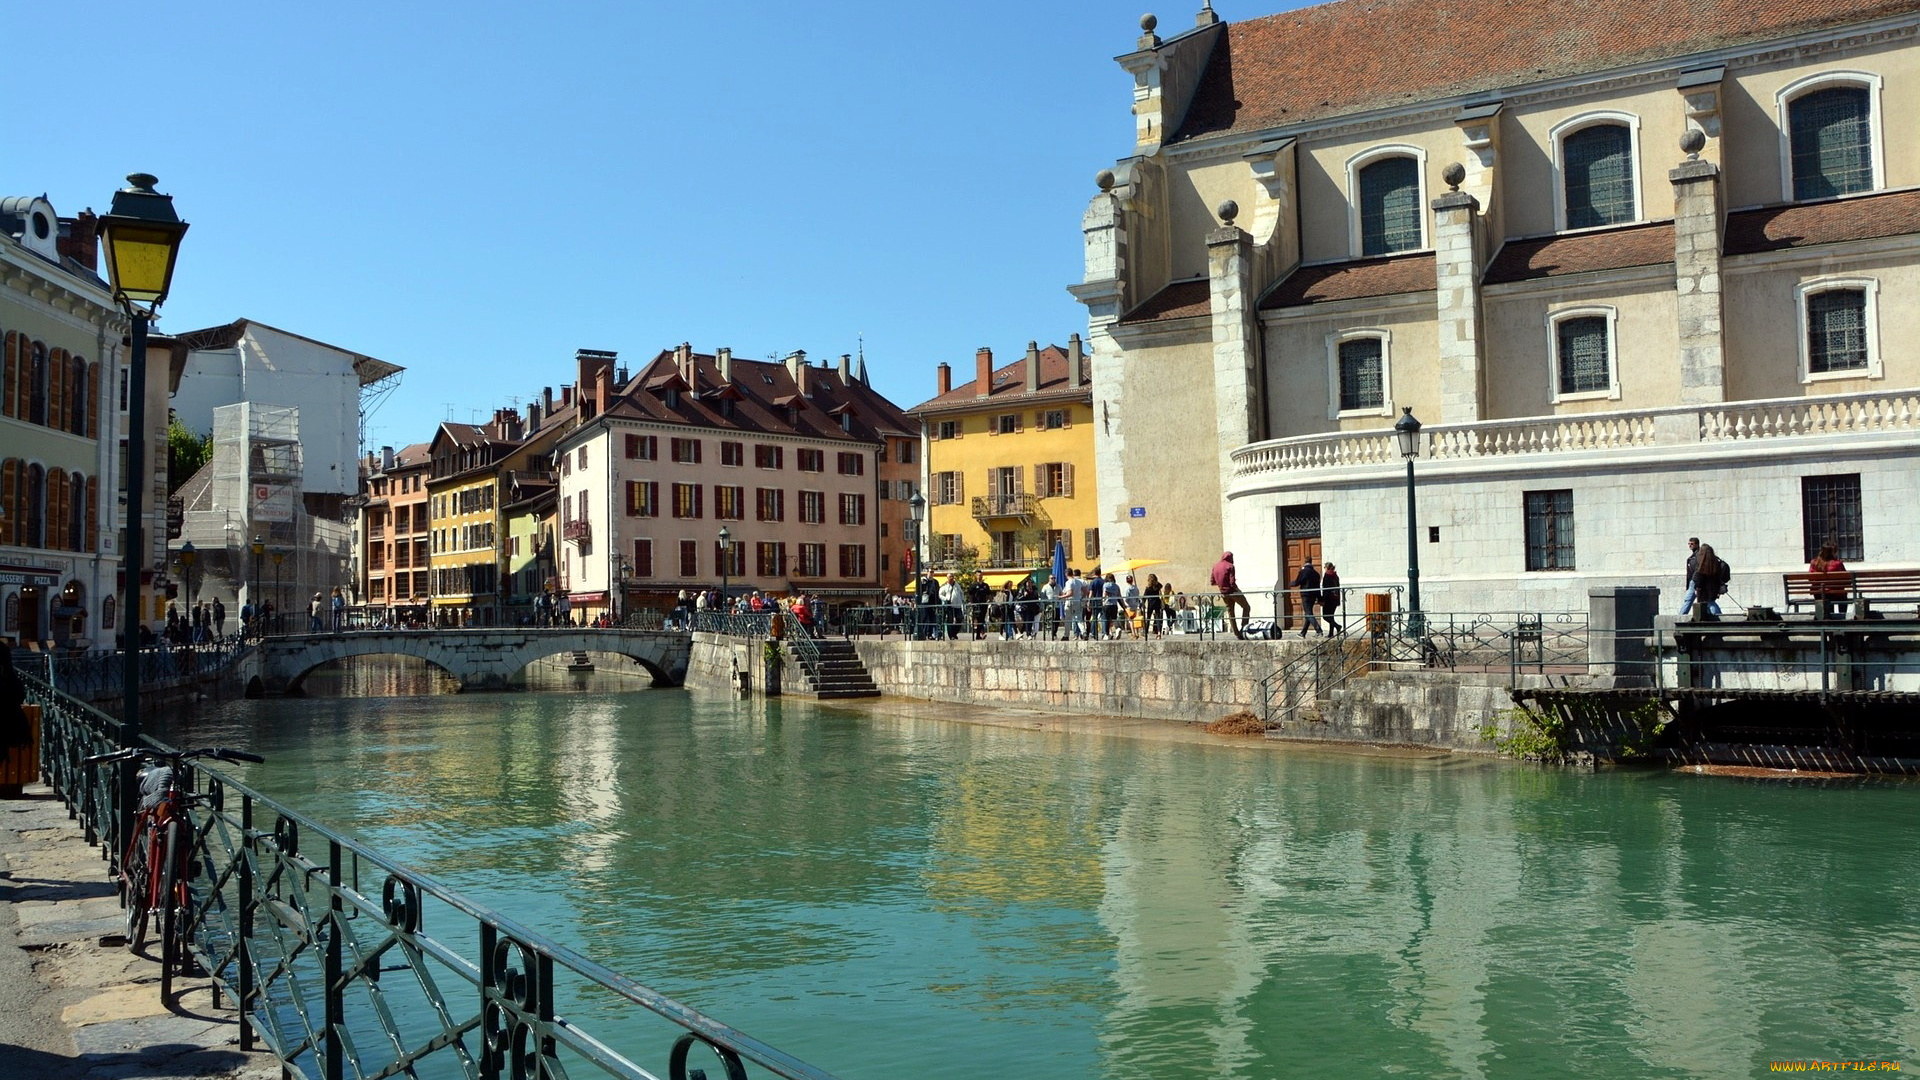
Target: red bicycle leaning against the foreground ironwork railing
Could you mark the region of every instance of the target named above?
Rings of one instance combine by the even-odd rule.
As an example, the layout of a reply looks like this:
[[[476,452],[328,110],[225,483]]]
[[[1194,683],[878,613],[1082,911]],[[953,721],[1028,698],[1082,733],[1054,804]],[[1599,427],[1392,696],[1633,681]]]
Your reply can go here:
[[[144,763],[140,809],[134,813],[132,836],[121,857],[119,890],[121,903],[127,907],[127,947],[131,951],[140,951],[146,945],[148,917],[159,913],[159,995],[163,999],[173,995],[173,976],[186,972],[192,955],[186,947],[186,924],[192,913],[188,882],[194,876],[194,824],[188,807],[204,803],[205,796],[180,788],[180,767],[202,757],[265,761],[257,753],[227,748],[184,751],[131,748],[86,759],[92,765],[134,759]]]

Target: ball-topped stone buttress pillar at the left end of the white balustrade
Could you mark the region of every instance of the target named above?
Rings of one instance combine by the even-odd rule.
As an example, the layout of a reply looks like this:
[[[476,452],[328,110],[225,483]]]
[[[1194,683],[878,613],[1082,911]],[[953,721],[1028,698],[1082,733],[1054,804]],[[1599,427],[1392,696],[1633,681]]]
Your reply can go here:
[[[1213,415],[1219,417],[1219,461],[1265,438],[1260,394],[1260,313],[1254,311],[1254,238],[1233,223],[1240,208],[1219,206],[1221,227],[1206,236],[1208,286],[1213,307]]]

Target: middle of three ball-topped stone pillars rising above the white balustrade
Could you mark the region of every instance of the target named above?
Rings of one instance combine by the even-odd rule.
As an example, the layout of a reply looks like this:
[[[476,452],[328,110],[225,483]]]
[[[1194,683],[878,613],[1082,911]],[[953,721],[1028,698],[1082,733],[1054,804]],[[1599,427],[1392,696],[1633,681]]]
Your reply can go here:
[[[1440,423],[1486,419],[1486,359],[1480,344],[1480,202],[1459,190],[1459,163],[1446,167],[1453,190],[1434,208],[1434,309],[1440,361]]]

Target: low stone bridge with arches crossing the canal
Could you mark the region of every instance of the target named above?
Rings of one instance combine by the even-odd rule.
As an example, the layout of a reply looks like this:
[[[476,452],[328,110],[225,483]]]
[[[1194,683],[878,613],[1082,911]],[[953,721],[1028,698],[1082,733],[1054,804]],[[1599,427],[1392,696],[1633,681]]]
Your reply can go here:
[[[348,630],[265,638],[240,659],[238,678],[250,698],[300,694],[315,667],[357,655],[411,655],[445,671],[461,690],[507,690],[524,684],[526,665],[551,657],[618,653],[653,675],[655,686],[687,676],[691,640],[664,630],[490,628],[490,630]]]

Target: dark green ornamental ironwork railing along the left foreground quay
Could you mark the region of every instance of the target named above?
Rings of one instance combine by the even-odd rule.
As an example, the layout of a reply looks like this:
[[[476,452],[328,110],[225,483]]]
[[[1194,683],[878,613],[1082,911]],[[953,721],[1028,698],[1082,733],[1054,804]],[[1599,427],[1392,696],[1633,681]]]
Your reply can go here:
[[[119,723],[33,675],[27,690],[50,782],[88,842],[123,849],[119,784],[81,763],[119,744]],[[182,786],[205,796],[184,924],[215,994],[240,1007],[242,1049],[315,1080],[691,1080],[701,1065],[737,1080],[747,1063],[831,1080],[223,773],[190,769]]]

